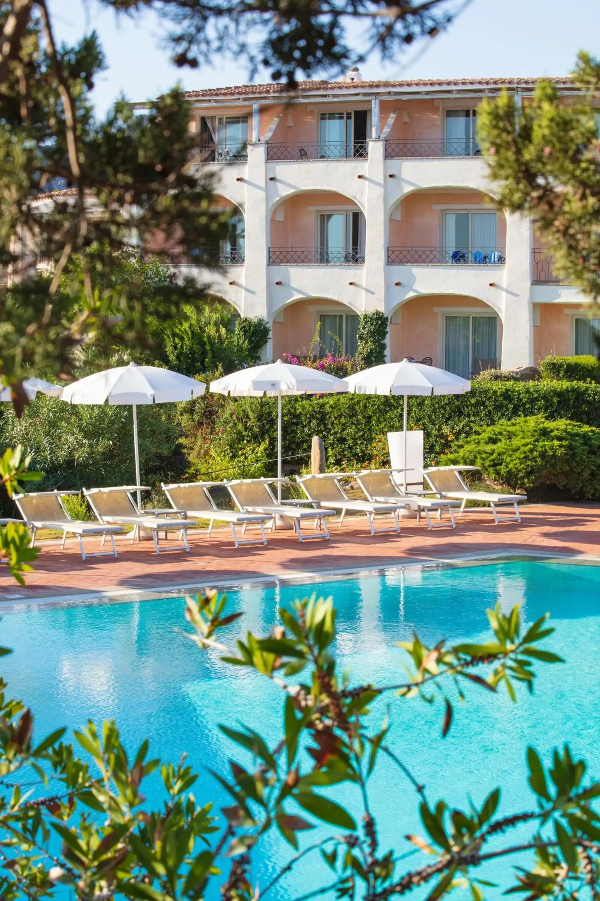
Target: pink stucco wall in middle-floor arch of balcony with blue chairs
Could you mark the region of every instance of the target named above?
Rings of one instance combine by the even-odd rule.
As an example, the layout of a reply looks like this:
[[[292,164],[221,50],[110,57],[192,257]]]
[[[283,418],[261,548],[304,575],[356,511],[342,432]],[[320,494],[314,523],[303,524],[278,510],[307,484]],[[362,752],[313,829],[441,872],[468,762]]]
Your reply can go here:
[[[400,205],[401,220],[390,218],[390,247],[438,247],[443,244],[443,210],[434,204],[452,204],[457,209],[467,204],[486,204],[487,195],[479,191],[416,191]],[[490,211],[493,207],[489,207]],[[498,250],[506,247],[506,217],[497,214]]]

